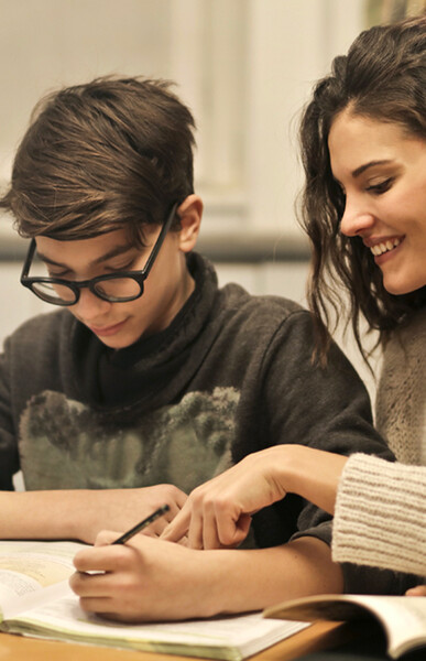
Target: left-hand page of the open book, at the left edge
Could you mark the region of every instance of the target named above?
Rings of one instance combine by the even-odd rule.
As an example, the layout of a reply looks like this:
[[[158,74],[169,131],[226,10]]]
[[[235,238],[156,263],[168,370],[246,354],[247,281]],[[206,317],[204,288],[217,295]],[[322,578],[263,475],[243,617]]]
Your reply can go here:
[[[77,542],[1,541],[0,607],[2,619],[32,608],[41,594],[58,594],[55,586],[73,574]],[[59,590],[61,592],[61,590]]]

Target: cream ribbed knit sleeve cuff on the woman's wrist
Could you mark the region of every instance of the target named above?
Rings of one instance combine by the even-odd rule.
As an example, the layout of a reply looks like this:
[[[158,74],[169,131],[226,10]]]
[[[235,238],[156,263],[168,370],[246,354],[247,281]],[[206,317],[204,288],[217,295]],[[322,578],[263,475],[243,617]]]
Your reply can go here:
[[[354,454],[337,495],[332,559],[426,576],[426,466]]]

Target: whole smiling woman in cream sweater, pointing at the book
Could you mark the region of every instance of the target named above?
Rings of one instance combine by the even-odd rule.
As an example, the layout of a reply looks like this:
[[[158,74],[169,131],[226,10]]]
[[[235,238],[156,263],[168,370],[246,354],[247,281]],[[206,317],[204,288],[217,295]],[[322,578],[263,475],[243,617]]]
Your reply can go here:
[[[335,512],[332,559],[426,577],[426,17],[375,26],[317,84],[302,120],[316,357],[342,294],[381,333],[376,425],[401,463],[298,445],[245,457],[189,496],[163,535],[239,543],[286,494]],[[363,339],[363,338],[362,338]],[[361,346],[362,348],[362,346]],[[357,588],[358,592],[358,588]],[[426,594],[417,586],[411,594]]]

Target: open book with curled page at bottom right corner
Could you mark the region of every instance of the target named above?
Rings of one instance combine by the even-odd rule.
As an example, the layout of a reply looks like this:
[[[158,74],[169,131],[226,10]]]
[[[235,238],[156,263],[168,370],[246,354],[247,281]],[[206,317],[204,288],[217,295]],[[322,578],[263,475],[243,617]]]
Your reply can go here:
[[[392,659],[426,647],[426,597],[319,595],[284,602],[263,615],[306,621],[374,618],[384,630]]]

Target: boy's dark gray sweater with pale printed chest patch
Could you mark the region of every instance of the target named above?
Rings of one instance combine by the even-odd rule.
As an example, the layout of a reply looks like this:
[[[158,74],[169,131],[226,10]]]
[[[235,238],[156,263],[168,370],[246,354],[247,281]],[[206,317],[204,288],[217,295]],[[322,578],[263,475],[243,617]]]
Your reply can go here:
[[[275,296],[218,289],[192,254],[196,288],[172,324],[108,349],[69,311],[31,319],[0,356],[0,488],[144,487],[189,492],[248,453],[305,443],[391,457],[367,391],[332,346],[313,366],[310,315]],[[330,543],[330,516],[290,495],[254,514],[259,546]],[[402,579],[405,581],[405,577]],[[401,592],[391,573],[345,566],[349,592]]]

